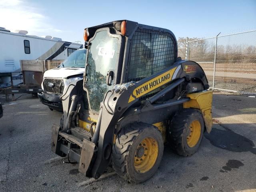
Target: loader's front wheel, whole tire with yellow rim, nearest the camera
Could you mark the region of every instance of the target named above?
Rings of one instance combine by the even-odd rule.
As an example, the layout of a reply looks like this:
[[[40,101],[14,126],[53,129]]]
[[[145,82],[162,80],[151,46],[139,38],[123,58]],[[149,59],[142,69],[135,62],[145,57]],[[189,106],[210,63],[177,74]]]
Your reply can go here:
[[[116,173],[130,182],[144,182],[154,175],[162,160],[164,141],[153,125],[130,124],[116,136],[112,149]]]

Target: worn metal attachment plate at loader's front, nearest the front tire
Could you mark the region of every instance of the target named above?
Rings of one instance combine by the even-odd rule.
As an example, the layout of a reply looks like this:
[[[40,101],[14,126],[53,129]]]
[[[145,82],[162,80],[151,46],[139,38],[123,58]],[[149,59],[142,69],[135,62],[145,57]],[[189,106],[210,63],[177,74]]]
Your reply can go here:
[[[86,175],[86,172],[92,161],[94,150],[95,150],[95,144],[84,139],[82,144],[82,149],[81,149],[79,168],[78,168],[79,172]]]

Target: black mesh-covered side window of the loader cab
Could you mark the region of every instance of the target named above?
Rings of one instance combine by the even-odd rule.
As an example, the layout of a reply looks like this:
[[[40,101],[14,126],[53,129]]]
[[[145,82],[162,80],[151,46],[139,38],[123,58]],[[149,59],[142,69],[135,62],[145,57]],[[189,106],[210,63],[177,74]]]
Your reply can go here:
[[[175,61],[173,37],[168,33],[141,30],[132,39],[126,82],[139,81],[171,66]]]

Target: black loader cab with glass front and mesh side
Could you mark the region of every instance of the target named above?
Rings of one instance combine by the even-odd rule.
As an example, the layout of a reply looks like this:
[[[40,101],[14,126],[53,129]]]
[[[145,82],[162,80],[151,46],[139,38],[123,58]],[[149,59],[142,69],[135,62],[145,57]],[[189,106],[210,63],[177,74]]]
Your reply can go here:
[[[100,110],[115,84],[137,82],[176,62],[177,42],[171,31],[121,20],[86,28],[88,46],[84,90],[88,109]]]

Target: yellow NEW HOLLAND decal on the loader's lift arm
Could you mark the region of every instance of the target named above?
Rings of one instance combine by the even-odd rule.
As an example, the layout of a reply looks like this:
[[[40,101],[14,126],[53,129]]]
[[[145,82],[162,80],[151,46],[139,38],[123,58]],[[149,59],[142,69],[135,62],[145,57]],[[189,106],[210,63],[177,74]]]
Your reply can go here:
[[[172,80],[172,76],[175,72],[177,67],[172,68],[171,70],[168,70],[167,72],[149,80],[148,82],[142,84],[141,86],[138,86],[137,88],[135,88],[132,92],[132,94],[130,95],[129,101],[128,103],[132,102],[135,100],[135,98],[139,98],[153,90],[155,90],[156,88],[163,86],[164,84],[170,82]]]

